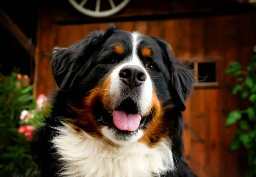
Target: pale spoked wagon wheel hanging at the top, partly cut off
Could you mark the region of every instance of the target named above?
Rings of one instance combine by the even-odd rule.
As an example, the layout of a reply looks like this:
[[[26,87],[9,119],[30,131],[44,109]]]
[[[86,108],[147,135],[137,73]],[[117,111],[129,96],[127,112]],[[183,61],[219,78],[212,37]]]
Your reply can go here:
[[[101,0],[96,0],[95,11],[93,11],[93,10],[84,8],[84,6],[87,3],[87,0],[82,0],[80,3],[76,2],[76,0],[69,0],[70,4],[76,10],[80,11],[82,14],[86,14],[91,17],[108,17],[113,14],[116,14],[118,11],[123,9],[129,3],[129,1],[130,0],[122,0],[122,2],[116,6],[113,0],[108,0],[111,6],[111,9],[107,11],[100,11]]]

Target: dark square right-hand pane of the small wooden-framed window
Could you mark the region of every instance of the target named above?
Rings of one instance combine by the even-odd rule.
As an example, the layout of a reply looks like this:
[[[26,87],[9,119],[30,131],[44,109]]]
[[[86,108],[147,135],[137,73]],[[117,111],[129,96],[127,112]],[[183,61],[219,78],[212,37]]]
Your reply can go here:
[[[198,82],[216,82],[216,63],[198,63]]]

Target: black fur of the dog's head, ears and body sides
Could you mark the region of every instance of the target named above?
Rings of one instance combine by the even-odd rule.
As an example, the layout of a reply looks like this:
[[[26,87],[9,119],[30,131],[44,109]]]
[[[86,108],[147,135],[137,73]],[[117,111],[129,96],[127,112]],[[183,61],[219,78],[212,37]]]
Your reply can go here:
[[[106,32],[93,31],[84,40],[70,46],[68,49],[58,49],[52,59],[52,74],[59,90],[52,97],[52,112],[46,119],[46,125],[38,128],[32,142],[32,156],[41,169],[41,176],[53,177],[59,170],[61,161],[54,157],[55,149],[49,140],[57,134],[51,127],[62,126],[65,117],[76,119],[76,113],[70,106],[82,108],[81,99],[88,91],[95,88],[113,66],[106,64],[110,57],[122,62],[131,55],[131,34],[111,26]],[[122,56],[113,54],[113,46],[122,44],[125,52]],[[143,58],[140,50],[151,46],[153,58]],[[142,36],[138,55],[143,64],[154,64],[156,71],[148,71],[154,84],[157,96],[166,108],[166,121],[172,121],[172,152],[177,171],[163,174],[163,177],[195,177],[186,163],[183,155],[183,115],[186,109],[185,101],[192,91],[193,72],[186,65],[175,60],[170,53],[169,45],[153,36]],[[174,108],[170,108],[174,105]]]

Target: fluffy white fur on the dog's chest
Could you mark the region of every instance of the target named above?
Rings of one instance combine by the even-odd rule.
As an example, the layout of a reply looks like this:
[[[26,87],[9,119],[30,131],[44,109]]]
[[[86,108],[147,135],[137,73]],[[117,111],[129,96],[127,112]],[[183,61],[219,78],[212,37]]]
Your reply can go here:
[[[56,128],[61,132],[52,139],[63,164],[64,177],[154,177],[166,170],[174,170],[172,151],[159,142],[154,148],[144,143],[113,146],[102,139],[78,134],[65,124]]]

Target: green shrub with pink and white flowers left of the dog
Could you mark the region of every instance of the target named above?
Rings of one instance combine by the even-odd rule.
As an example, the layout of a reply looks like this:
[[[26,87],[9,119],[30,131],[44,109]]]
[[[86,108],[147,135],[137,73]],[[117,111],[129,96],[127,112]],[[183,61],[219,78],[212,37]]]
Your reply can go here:
[[[32,131],[49,114],[47,97],[32,96],[29,77],[0,74],[0,176],[32,177],[37,166],[30,155]]]

